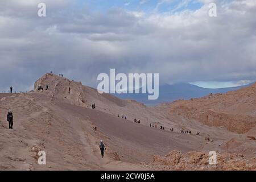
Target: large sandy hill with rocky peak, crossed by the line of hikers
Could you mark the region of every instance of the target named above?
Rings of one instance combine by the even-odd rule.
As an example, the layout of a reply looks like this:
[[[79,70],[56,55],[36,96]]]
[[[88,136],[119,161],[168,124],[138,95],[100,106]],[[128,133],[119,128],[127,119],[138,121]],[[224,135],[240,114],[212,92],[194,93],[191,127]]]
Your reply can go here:
[[[96,109],[92,109],[93,103]],[[136,101],[119,100],[110,94],[99,94],[81,82],[47,73],[35,82],[31,92],[0,94],[0,169],[179,169],[162,166],[164,160],[170,159],[160,156],[174,150],[183,154],[232,152],[234,158],[243,155],[242,169],[255,169],[255,163],[246,167],[246,159],[255,158],[255,133],[248,138],[248,133],[204,125],[171,113],[168,108],[170,105],[146,107]],[[6,114],[10,109],[14,130],[7,128]],[[118,118],[118,114],[127,119]],[[141,119],[141,123],[135,123],[134,118]],[[157,128],[149,127],[149,123]],[[160,130],[160,125],[166,130]],[[180,129],[191,130],[192,134],[182,134]],[[196,135],[197,131],[200,135]],[[101,139],[107,148],[103,159],[98,148]],[[41,150],[46,151],[46,165],[37,163]],[[236,162],[233,160],[230,165]],[[190,169],[208,168],[200,165],[193,164]]]

